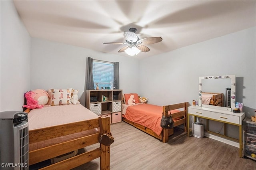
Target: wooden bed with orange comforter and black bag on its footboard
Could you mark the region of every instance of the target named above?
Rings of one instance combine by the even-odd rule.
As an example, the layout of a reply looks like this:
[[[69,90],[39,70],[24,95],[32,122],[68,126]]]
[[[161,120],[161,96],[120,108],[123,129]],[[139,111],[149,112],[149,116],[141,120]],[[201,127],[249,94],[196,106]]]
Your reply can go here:
[[[164,143],[168,142],[168,137],[173,134],[173,129],[163,129],[160,127],[163,114],[165,116],[172,114],[174,127],[184,124],[184,130],[186,132],[188,102],[166,106],[146,103],[131,106],[123,104],[122,108],[124,122],[162,140]]]

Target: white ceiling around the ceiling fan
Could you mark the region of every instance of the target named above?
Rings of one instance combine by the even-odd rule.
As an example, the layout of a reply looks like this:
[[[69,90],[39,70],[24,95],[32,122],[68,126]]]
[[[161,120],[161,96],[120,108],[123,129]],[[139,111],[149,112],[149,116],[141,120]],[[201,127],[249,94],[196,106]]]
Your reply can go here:
[[[66,43],[105,53],[126,45],[123,32],[137,28],[142,38],[161,36],[146,45],[144,58],[166,53],[256,26],[256,1],[218,0],[16,0],[20,18],[31,37]],[[129,56],[130,57],[130,56]]]

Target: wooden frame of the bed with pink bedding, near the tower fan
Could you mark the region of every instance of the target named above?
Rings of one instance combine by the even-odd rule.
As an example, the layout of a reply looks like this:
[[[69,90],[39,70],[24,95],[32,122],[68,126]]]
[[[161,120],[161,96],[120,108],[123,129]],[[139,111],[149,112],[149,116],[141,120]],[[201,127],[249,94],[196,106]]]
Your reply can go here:
[[[26,109],[26,113],[29,109]],[[102,119],[91,119],[87,121],[80,121],[76,123],[68,123],[65,125],[58,125],[53,127],[40,128],[35,130],[29,130],[29,143],[40,142],[43,140],[48,140],[60,136],[65,136],[68,134],[73,134],[77,132],[82,132],[85,130],[90,130],[100,127],[99,120],[102,121],[102,131],[110,134],[110,117],[105,117]],[[100,132],[94,134],[83,136],[81,138],[76,138],[74,140],[62,142],[59,144],[54,144],[52,146],[47,146],[45,148],[40,148],[37,150],[32,150],[29,152],[29,165],[72,152],[74,150],[90,146],[99,142]],[[91,160],[100,157],[100,170],[110,169],[110,146],[104,146],[99,143],[99,148],[89,150],[82,154],[78,154],[66,160],[51,164],[42,168],[42,170],[63,170],[72,169]]]

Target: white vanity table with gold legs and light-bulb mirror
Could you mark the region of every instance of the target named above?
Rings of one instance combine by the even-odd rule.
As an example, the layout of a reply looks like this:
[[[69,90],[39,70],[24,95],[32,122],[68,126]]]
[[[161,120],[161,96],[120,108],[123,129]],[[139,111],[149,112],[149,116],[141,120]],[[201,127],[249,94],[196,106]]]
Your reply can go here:
[[[210,87],[206,90],[203,86],[206,85],[204,80],[208,80],[209,82],[216,79],[219,79],[216,81],[216,85],[211,84]],[[225,79],[225,80],[224,80]],[[226,82],[229,82],[228,85],[224,85],[223,87],[217,87],[221,83],[221,81],[224,80]],[[239,142],[239,156],[242,158],[242,150],[243,150],[243,143],[242,143],[242,123],[245,118],[245,113],[234,113],[232,112],[232,108],[235,108],[235,85],[236,85],[236,78],[235,75],[223,75],[223,76],[208,76],[208,77],[199,77],[199,100],[198,100],[198,106],[190,106],[188,107],[188,137],[189,137],[189,116],[194,117],[194,122],[196,122],[196,118],[203,118],[206,119],[206,131],[221,136],[224,138],[227,138],[229,140],[233,140],[236,142]],[[228,87],[227,87],[228,86]],[[215,89],[214,89],[215,88]],[[215,106],[215,105],[209,105],[204,103],[204,99],[202,97],[203,93],[217,93],[216,90],[220,88],[222,91],[218,91],[218,93],[225,93],[223,92],[224,89],[228,89],[229,93],[225,93],[222,96],[228,96],[229,98],[226,98],[225,101],[222,101],[222,107]],[[209,91],[210,89],[210,91]],[[206,92],[207,91],[207,92]],[[228,102],[228,105],[230,107],[226,107],[226,102]],[[212,132],[209,130],[209,123],[208,121],[217,121],[224,123],[224,134],[219,134],[217,132]],[[239,127],[239,139],[232,138],[230,136],[226,135],[226,125],[235,125]]]

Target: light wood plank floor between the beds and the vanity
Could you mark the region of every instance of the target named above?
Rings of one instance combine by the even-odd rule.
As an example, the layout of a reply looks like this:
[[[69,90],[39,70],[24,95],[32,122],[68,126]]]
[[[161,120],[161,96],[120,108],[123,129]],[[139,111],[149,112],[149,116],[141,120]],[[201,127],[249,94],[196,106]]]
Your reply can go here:
[[[235,146],[207,137],[188,138],[177,128],[165,144],[124,122],[112,124],[111,132],[115,142],[110,146],[110,170],[256,170],[256,161],[240,158]],[[99,162],[74,170],[99,170]]]

